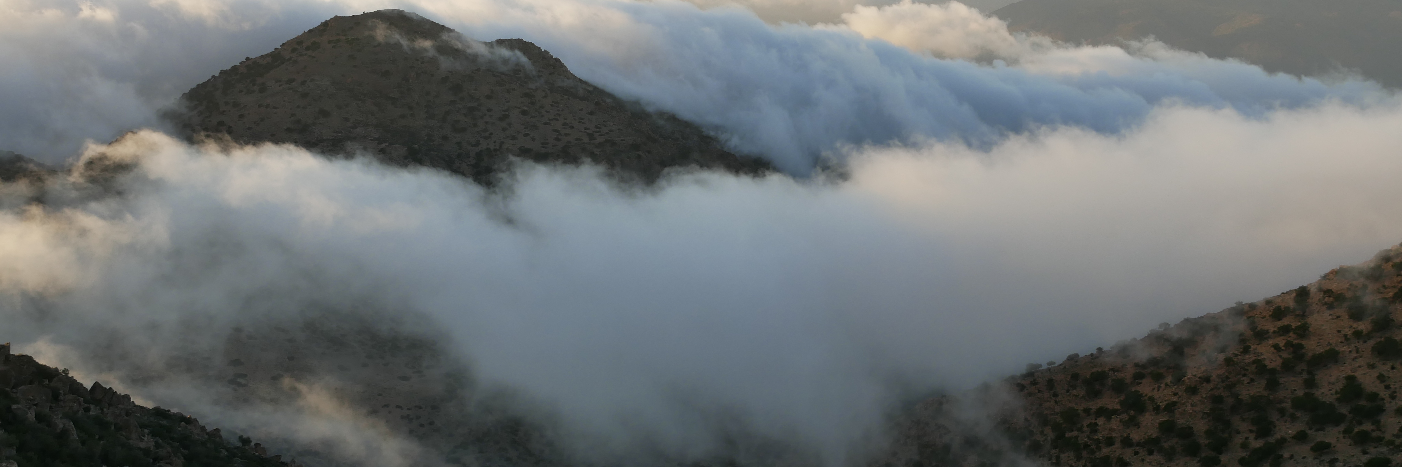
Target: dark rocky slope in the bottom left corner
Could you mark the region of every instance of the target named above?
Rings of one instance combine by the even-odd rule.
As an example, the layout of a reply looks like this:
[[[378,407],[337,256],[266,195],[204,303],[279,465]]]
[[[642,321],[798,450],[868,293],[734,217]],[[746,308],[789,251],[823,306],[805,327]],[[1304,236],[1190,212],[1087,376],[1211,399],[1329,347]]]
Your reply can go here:
[[[262,443],[132,397],[84,386],[0,345],[0,467],[300,466],[268,456]]]

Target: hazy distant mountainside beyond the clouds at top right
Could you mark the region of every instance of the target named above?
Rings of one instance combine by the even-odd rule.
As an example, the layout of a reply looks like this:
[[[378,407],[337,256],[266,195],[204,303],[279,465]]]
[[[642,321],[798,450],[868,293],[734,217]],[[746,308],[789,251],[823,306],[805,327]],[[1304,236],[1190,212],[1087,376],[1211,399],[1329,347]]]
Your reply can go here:
[[[1154,36],[1270,72],[1339,67],[1402,87],[1398,0],[1022,0],[994,11],[1014,32],[1092,45]]]

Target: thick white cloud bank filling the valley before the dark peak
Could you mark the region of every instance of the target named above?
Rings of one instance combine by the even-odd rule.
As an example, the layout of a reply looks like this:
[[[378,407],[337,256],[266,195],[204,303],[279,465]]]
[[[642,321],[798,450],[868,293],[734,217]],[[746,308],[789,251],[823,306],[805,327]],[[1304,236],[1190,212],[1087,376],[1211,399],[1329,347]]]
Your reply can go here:
[[[726,408],[838,464],[903,388],[1085,352],[1395,243],[1398,125],[1395,107],[1165,108],[1116,136],[859,150],[843,182],[629,194],[526,168],[495,201],[439,172],[144,133],[101,149],[140,163],[128,196],[0,216],[0,285],[45,313],[6,302],[20,325],[0,339],[81,348],[115,327],[158,362],[217,355],[266,313],[380,306],[611,454],[705,452],[702,414]]]

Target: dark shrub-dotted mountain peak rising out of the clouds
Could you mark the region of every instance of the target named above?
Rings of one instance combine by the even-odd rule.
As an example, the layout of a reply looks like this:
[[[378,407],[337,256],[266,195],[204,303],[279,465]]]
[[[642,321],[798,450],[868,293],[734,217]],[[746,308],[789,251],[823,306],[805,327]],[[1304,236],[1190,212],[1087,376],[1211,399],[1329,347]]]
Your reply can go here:
[[[491,181],[509,156],[590,160],[655,180],[666,168],[757,174],[695,125],[646,112],[520,39],[477,42],[400,10],[335,17],[184,95],[192,135],[360,149]]]

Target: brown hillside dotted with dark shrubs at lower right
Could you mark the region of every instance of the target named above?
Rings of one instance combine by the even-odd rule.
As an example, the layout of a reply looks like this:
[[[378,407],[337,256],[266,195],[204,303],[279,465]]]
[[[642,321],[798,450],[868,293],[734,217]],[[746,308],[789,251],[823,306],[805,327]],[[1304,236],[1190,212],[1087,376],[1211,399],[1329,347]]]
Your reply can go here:
[[[935,466],[1364,466],[1402,460],[1402,245],[1318,282],[1147,337],[1032,363],[974,402],[939,397],[901,424],[892,461]],[[997,391],[984,391],[997,393]]]

